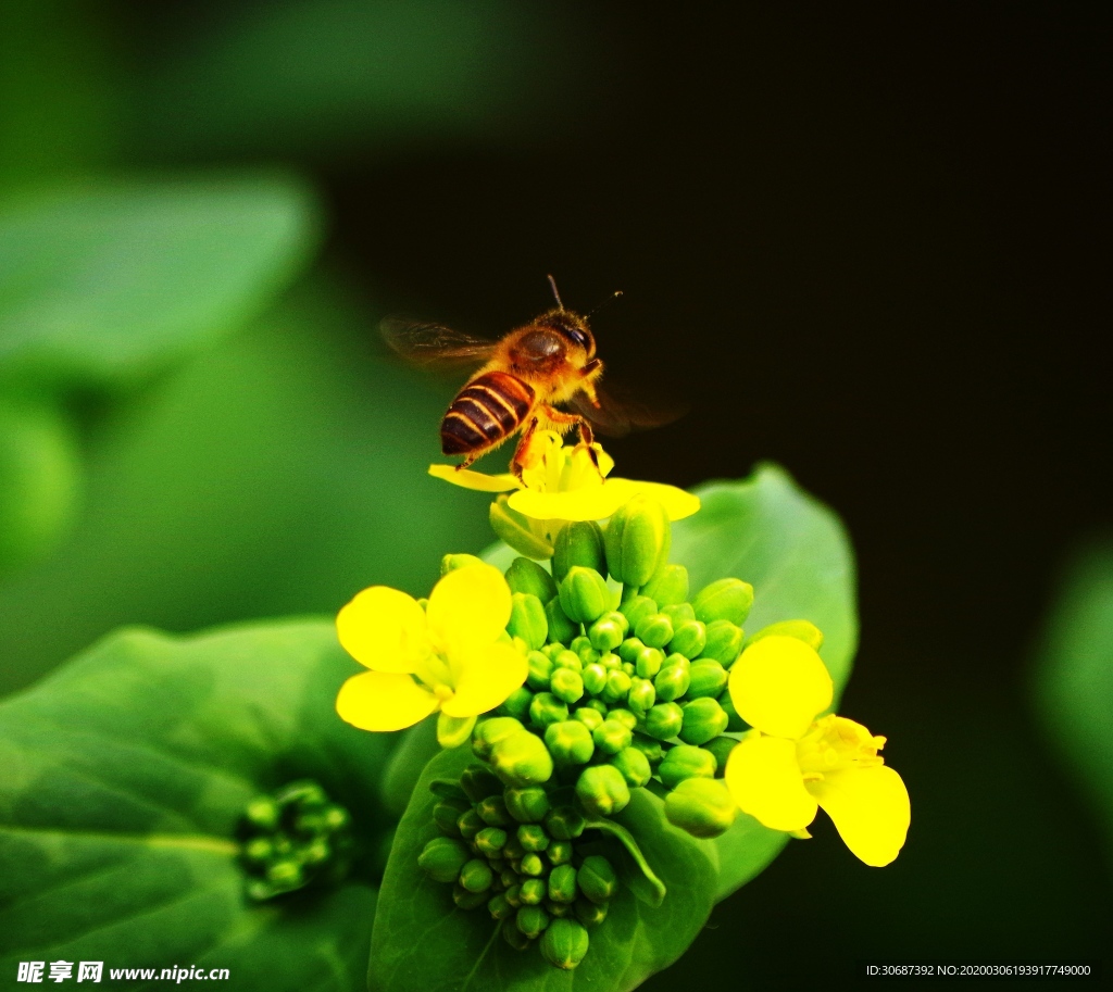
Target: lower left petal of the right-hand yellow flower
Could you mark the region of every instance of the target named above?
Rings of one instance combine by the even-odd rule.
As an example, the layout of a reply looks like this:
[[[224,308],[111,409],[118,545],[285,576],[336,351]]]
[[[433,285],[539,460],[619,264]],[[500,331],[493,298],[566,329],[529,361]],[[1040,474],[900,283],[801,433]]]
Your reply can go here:
[[[800,831],[816,819],[792,741],[751,731],[730,752],[726,782],[741,811],[771,830]]]

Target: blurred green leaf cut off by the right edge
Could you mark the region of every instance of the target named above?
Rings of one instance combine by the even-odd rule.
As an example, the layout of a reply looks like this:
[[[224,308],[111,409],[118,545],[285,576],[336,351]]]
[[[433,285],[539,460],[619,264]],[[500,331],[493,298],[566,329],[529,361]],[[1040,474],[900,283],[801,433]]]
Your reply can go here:
[[[1105,823],[1113,856],[1113,543],[1072,563],[1032,683],[1048,741]]]

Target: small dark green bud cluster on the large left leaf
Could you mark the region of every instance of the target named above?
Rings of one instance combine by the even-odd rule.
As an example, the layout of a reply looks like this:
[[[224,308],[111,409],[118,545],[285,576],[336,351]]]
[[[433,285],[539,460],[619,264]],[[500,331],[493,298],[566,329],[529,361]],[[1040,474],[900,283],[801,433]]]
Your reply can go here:
[[[247,896],[264,902],[311,884],[341,881],[352,865],[347,810],[313,781],[253,798],[239,823]]]

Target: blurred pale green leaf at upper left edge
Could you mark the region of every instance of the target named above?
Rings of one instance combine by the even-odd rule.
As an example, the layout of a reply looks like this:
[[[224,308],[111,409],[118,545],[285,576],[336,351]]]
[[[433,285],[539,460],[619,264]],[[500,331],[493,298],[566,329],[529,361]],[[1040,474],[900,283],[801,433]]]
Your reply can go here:
[[[134,383],[256,313],[315,240],[277,177],[22,195],[0,212],[0,376]]]

